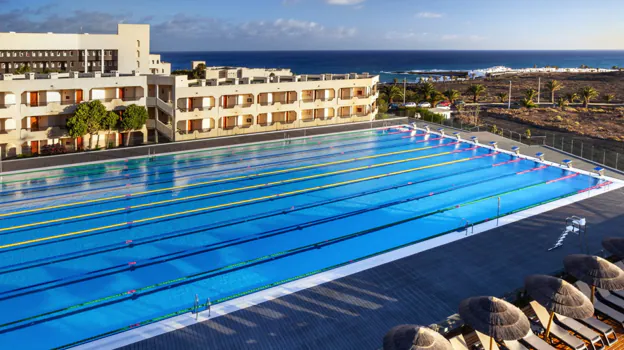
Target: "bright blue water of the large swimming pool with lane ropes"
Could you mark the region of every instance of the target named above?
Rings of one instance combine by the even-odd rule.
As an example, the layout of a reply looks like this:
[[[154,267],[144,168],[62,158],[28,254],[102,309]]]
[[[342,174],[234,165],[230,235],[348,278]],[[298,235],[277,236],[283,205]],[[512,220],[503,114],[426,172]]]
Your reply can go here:
[[[0,344],[77,344],[601,181],[404,128],[4,176]]]

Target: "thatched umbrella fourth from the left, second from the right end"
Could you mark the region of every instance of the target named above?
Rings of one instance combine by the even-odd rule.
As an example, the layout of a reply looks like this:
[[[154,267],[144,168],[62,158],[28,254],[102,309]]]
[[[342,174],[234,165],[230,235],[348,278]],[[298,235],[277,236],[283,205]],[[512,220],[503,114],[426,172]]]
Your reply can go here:
[[[592,304],[596,287],[611,291],[624,289],[624,271],[603,258],[572,254],[563,259],[563,266],[570,275],[591,286]]]

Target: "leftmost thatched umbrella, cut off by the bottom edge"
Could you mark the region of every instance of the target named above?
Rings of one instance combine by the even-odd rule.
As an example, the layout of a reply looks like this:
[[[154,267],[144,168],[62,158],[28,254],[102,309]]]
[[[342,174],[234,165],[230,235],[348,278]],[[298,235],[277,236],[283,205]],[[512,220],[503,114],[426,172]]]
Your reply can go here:
[[[453,350],[453,346],[431,328],[404,324],[386,333],[384,350]]]

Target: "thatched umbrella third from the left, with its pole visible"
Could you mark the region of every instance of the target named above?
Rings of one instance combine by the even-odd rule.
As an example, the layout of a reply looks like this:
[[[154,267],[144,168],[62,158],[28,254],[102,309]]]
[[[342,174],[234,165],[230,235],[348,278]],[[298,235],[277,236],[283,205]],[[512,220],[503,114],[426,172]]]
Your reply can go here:
[[[594,305],[589,298],[570,283],[552,276],[532,275],[524,280],[529,295],[550,311],[546,336],[550,334],[555,313],[572,318],[589,318],[594,314]]]

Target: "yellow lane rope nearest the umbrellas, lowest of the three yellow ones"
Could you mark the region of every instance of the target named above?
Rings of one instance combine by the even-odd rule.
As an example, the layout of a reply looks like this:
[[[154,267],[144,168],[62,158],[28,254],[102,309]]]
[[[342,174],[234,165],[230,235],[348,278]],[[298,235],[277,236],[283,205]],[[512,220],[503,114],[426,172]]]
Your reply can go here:
[[[203,207],[203,208],[197,208],[197,209],[181,211],[181,212],[177,212],[177,213],[170,213],[170,214],[163,214],[163,215],[153,216],[153,217],[139,219],[139,220],[130,221],[130,222],[121,222],[121,223],[107,225],[107,226],[90,228],[90,229],[87,229],[87,230],[81,230],[81,231],[64,233],[64,234],[55,235],[55,236],[48,236],[48,237],[42,237],[42,238],[37,238],[37,239],[31,239],[31,240],[17,242],[17,243],[5,244],[5,245],[0,246],[0,249],[24,246],[24,245],[28,245],[28,244],[45,242],[45,241],[51,241],[51,240],[59,239],[59,238],[78,236],[78,235],[83,235],[85,233],[91,233],[91,232],[96,232],[96,231],[100,231],[100,230],[107,230],[107,229],[111,229],[111,228],[131,227],[133,224],[140,224],[140,223],[145,223],[145,222],[150,222],[150,221],[155,221],[155,220],[160,220],[160,219],[168,219],[168,218],[172,218],[172,217],[176,217],[176,216],[201,213],[201,212],[205,212],[205,211],[209,211],[209,210],[213,210],[213,209],[220,209],[220,208],[226,208],[226,207],[239,206],[239,205],[242,205],[242,204],[249,204],[249,203],[259,202],[259,201],[272,199],[272,198],[280,198],[280,197],[284,197],[284,196],[290,196],[290,195],[294,195],[294,194],[302,194],[302,193],[311,192],[311,191],[318,191],[318,190],[323,190],[323,189],[328,189],[328,188],[333,188],[333,187],[338,187],[338,186],[343,186],[343,185],[349,185],[349,184],[363,182],[363,181],[380,179],[380,178],[384,178],[384,177],[387,177],[387,176],[400,175],[400,174],[405,174],[405,173],[410,173],[410,172],[415,172],[415,171],[420,171],[420,170],[440,167],[440,166],[444,166],[444,165],[450,165],[450,164],[466,162],[466,161],[469,161],[469,160],[471,160],[471,158],[458,159],[458,160],[453,160],[453,161],[449,161],[449,162],[443,162],[443,163],[425,165],[425,166],[421,166],[421,167],[417,167],[417,168],[411,168],[411,169],[394,171],[394,172],[390,172],[390,173],[386,173],[386,174],[373,175],[373,176],[363,177],[363,178],[359,178],[359,179],[341,181],[341,182],[336,182],[336,183],[327,184],[327,185],[321,185],[321,186],[314,186],[314,187],[304,188],[304,189],[290,191],[290,192],[278,193],[278,194],[273,194],[273,195],[268,195],[268,196],[263,196],[263,197],[250,198],[250,199],[245,199],[245,200],[241,200],[241,201],[237,201],[237,202],[223,203],[223,204],[212,205],[212,206]],[[407,161],[407,160],[396,161],[394,163],[401,163],[401,162],[405,162],[405,161]]]

